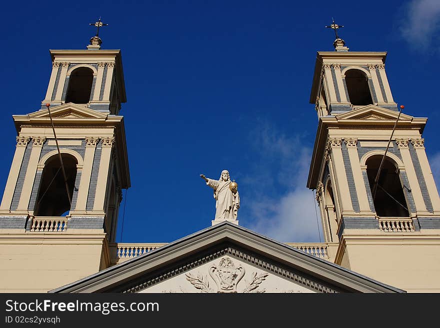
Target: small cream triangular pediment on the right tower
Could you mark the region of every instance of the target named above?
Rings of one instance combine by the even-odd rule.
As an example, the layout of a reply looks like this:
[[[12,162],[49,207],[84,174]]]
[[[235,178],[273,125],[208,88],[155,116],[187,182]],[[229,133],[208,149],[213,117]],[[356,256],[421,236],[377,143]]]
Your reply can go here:
[[[398,112],[390,109],[382,108],[375,105],[367,105],[356,108],[352,111],[336,115],[336,119],[340,120],[392,120],[397,119]],[[412,116],[400,114],[399,121],[411,121]]]

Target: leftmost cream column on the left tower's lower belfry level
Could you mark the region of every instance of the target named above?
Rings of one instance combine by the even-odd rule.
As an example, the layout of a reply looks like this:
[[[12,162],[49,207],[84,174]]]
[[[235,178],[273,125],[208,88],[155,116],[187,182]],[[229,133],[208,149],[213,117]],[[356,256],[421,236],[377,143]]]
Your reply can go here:
[[[9,175],[7,177],[6,186],[4,187],[3,199],[1,200],[0,211],[9,212],[12,196],[17,183],[18,174],[20,173],[21,163],[23,161],[24,152],[30,137],[17,137],[17,146],[15,154],[10,166]]]

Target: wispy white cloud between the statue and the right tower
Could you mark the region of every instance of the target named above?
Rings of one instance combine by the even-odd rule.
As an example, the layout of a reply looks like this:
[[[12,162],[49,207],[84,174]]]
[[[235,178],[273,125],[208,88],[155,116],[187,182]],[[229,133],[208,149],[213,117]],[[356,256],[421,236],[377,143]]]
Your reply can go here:
[[[246,225],[282,242],[318,242],[316,201],[305,186],[311,149],[300,136],[286,137],[267,121],[257,127],[251,138],[260,158],[242,183],[252,190],[243,213]],[[322,239],[320,223],[319,229]]]

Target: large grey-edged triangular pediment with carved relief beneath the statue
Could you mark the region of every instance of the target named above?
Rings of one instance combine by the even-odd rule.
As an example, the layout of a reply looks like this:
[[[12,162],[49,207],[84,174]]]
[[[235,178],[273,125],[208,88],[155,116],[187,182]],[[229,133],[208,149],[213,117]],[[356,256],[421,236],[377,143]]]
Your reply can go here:
[[[50,292],[246,291],[402,292],[229,222]]]

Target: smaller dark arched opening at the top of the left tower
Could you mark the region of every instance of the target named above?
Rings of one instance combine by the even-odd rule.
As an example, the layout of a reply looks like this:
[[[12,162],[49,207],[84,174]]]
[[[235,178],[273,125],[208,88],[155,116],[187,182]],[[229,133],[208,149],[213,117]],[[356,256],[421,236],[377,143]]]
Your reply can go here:
[[[67,87],[66,103],[87,104],[90,101],[93,71],[87,67],[79,67],[70,73]]]

